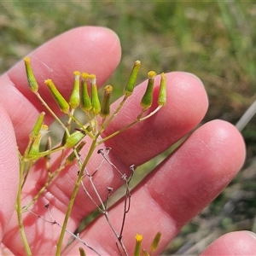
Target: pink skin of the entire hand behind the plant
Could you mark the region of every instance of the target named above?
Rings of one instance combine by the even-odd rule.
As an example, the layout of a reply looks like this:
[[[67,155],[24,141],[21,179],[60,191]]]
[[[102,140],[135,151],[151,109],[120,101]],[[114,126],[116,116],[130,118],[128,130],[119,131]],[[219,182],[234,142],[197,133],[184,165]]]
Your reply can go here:
[[[53,79],[64,96],[69,96],[73,84],[72,73],[79,70],[96,73],[97,84],[103,85],[113,73],[120,60],[120,44],[117,36],[106,28],[79,27],[54,38],[29,56],[32,67],[42,89],[41,93],[49,105],[55,102],[44,86],[44,79]],[[147,56],[145,56],[147,57]],[[132,63],[131,63],[132,65]],[[154,67],[153,67],[154,68]],[[201,122],[207,112],[207,93],[201,81],[189,73],[166,73],[167,104],[151,119],[135,125],[118,137],[106,143],[112,149],[111,160],[120,170],[134,164],[139,166],[172,146]],[[125,83],[121,81],[120,83]],[[27,135],[38,114],[44,107],[28,89],[23,61],[20,61],[0,78],[0,238],[1,254],[24,253],[18,236],[15,200],[19,177],[17,145],[24,150]],[[159,78],[156,79],[156,85]],[[114,84],[113,84],[114,85]],[[118,84],[119,85],[119,84]],[[125,85],[125,84],[124,84]],[[138,85],[124,112],[113,119],[106,131],[115,131],[137,116],[139,99],[145,83]],[[116,108],[117,103],[113,104]],[[49,125],[52,118],[47,115]],[[85,148],[86,149],[86,148]],[[85,150],[84,149],[84,150]],[[95,168],[101,159],[93,158],[89,168]],[[132,193],[131,211],[125,223],[124,242],[131,255],[135,235],[143,235],[143,246],[148,247],[157,231],[162,233],[160,245],[155,254],[162,252],[169,241],[176,236],[184,224],[188,223],[226,187],[245,160],[245,145],[239,131],[222,120],[212,120],[194,131],[182,147],[166,160],[141,183]],[[25,201],[31,199],[42,183],[45,175],[43,162],[38,162],[32,170],[32,177],[25,187]],[[65,215],[68,198],[72,193],[77,166],[72,165],[57,178],[32,207],[33,211],[49,219],[44,208],[50,205],[55,220],[61,223]],[[106,188],[117,189],[122,182],[119,174],[110,166],[97,173],[96,185],[104,197]],[[24,202],[25,202],[24,201]],[[75,230],[81,219],[94,209],[94,205],[79,191],[68,230]],[[122,202],[113,207],[110,215],[113,224],[119,222]],[[33,255],[53,255],[60,228],[44,220],[26,215],[26,235]],[[102,255],[117,255],[108,224],[104,217],[97,219],[80,234],[90,246]],[[67,244],[64,239],[64,247]],[[63,249],[63,255],[78,255],[81,244],[74,241]],[[84,247],[87,255],[93,255]],[[9,250],[9,251],[8,251]],[[239,231],[221,236],[206,248],[201,255],[253,255],[256,240],[253,233]]]

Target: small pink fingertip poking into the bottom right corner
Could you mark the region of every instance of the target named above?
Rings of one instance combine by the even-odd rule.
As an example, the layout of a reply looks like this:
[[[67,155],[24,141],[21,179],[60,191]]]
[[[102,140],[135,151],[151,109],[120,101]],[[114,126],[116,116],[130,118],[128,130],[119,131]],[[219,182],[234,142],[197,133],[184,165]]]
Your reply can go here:
[[[255,255],[255,252],[255,234],[249,231],[237,231],[220,236],[200,255]]]

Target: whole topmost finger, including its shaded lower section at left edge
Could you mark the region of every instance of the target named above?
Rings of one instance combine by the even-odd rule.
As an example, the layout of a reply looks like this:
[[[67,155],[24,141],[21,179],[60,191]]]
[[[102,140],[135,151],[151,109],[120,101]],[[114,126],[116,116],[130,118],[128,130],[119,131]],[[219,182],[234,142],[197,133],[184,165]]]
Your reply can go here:
[[[75,70],[96,73],[97,83],[102,85],[119,63],[119,38],[107,28],[79,27],[43,44],[29,56],[40,94],[57,111],[44,80],[53,79],[64,96],[70,95]],[[23,61],[3,74],[0,83],[0,102],[15,126],[19,147],[24,148],[38,112],[45,109],[28,88]]]

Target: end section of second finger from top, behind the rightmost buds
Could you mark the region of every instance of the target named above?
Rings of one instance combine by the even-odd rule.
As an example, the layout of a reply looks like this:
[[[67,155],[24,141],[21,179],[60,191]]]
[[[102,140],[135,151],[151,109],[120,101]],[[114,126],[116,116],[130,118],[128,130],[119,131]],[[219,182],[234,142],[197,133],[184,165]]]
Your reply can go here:
[[[201,81],[193,74],[173,72],[166,74],[167,105],[160,112],[142,123],[129,128],[106,142],[112,148],[111,154],[126,166],[140,166],[176,143],[180,138],[195,128],[205,116],[208,108],[207,94]],[[102,137],[137,119],[141,112],[140,101],[148,81],[138,86],[125,108],[113,119]],[[160,76],[155,78],[154,107],[160,85]],[[115,102],[113,108],[119,104]],[[116,160],[115,160],[116,162]]]

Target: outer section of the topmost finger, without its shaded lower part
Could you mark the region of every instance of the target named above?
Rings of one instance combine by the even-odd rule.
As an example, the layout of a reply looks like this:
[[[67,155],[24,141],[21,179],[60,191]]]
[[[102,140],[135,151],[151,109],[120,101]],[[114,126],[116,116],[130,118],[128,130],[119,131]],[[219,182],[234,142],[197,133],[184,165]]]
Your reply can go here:
[[[119,38],[108,28],[80,26],[52,38],[29,55],[38,84],[52,79],[61,89],[71,90],[73,71],[95,73],[102,85],[118,66],[121,57]],[[9,79],[28,96],[26,72],[20,61],[8,72]]]

